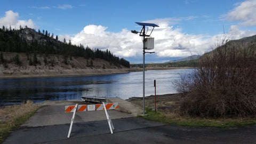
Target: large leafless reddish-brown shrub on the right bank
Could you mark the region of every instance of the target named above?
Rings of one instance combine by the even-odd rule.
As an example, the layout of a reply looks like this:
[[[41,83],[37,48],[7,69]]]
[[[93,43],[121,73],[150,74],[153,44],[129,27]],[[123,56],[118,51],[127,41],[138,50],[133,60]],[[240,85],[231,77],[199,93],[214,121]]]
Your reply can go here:
[[[228,42],[199,60],[195,73],[177,83],[183,115],[256,115],[256,42]]]

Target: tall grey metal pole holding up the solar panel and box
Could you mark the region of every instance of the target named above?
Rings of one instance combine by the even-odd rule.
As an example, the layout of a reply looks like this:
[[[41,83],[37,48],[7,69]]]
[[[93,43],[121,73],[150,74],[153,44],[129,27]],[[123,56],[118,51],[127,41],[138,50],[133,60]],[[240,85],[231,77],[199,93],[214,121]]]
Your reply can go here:
[[[143,26],[143,116],[145,115],[145,26]]]

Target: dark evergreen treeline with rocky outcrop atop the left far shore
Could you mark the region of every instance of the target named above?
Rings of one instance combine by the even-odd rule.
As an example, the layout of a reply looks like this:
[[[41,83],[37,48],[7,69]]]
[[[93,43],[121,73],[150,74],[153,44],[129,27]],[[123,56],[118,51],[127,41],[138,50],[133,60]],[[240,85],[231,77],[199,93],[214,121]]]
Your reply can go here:
[[[54,38],[55,37],[55,38]],[[90,49],[89,46],[84,47],[82,44],[79,46],[71,44],[71,41],[60,42],[58,35],[38,29],[28,27],[20,29],[12,29],[2,27],[0,28],[0,51],[2,52],[24,52],[27,54],[39,53],[44,54],[61,54],[63,58],[67,59],[68,56],[84,57],[85,59],[103,59],[114,63],[114,65],[123,65],[127,68],[130,67],[130,62],[123,58],[116,57],[109,50],[101,51],[99,49]]]

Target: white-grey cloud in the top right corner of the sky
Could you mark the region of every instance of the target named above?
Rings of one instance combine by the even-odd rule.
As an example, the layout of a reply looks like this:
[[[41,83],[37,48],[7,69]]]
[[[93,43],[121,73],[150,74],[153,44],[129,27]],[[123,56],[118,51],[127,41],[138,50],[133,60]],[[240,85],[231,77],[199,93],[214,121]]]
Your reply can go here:
[[[237,3],[236,7],[227,14],[229,21],[242,21],[242,26],[256,25],[256,1],[248,0],[243,3]]]

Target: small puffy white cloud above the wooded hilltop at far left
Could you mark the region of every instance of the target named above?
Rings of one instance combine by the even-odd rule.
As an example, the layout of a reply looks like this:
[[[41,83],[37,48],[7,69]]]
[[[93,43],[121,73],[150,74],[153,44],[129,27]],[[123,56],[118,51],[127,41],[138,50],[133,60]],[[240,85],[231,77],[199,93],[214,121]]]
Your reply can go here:
[[[19,13],[13,12],[13,11],[6,11],[5,16],[3,18],[0,18],[0,26],[5,26],[9,28],[11,26],[12,28],[20,28],[20,26],[25,27],[28,26],[29,28],[37,28],[37,26],[34,24],[34,22],[29,20],[19,20]]]

